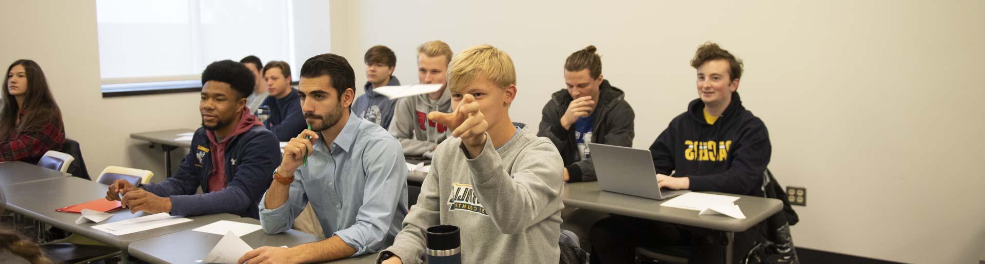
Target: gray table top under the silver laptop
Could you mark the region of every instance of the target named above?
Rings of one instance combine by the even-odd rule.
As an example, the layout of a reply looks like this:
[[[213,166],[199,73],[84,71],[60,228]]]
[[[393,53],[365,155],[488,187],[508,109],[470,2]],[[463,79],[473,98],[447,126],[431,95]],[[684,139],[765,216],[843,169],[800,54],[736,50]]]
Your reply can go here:
[[[721,215],[698,216],[698,211],[662,207],[660,204],[670,199],[658,201],[602,191],[597,181],[564,183],[561,198],[565,206],[717,231],[746,231],[783,209],[783,202],[778,199],[708,193],[741,197],[735,203],[742,209],[746,219]]]

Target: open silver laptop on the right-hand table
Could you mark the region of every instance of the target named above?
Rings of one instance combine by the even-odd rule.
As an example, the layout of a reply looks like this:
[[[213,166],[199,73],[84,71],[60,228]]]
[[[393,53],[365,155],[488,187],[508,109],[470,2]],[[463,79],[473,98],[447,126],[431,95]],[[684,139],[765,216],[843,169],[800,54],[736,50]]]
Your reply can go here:
[[[604,191],[664,200],[689,190],[661,190],[649,150],[589,143],[599,186]]]

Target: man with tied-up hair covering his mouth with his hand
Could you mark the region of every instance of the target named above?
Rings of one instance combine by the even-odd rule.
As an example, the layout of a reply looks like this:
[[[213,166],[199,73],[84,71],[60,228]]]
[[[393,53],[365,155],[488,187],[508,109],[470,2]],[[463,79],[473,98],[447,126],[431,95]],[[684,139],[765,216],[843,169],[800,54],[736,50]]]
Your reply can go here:
[[[602,76],[602,58],[589,45],[564,61],[564,85],[544,105],[541,129],[564,160],[564,181],[594,181],[588,143],[632,147],[632,107],[625,94]]]

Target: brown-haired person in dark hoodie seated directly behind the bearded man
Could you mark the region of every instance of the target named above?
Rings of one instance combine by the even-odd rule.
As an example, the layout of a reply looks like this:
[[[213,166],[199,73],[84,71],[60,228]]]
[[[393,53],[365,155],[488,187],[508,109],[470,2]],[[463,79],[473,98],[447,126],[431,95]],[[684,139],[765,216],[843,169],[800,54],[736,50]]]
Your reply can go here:
[[[270,96],[260,103],[270,109],[270,117],[263,125],[277,135],[277,140],[290,141],[307,127],[297,90],[291,87],[291,66],[283,61],[267,62],[263,66],[263,79],[270,88]]]

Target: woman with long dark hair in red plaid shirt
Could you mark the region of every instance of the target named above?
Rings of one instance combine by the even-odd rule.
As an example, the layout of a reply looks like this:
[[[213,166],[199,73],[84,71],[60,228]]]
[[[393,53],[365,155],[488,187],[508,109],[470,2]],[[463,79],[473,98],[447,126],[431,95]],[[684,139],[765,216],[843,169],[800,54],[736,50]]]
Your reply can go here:
[[[60,151],[65,125],[41,66],[20,59],[7,67],[0,113],[0,162],[37,164],[44,153]]]

